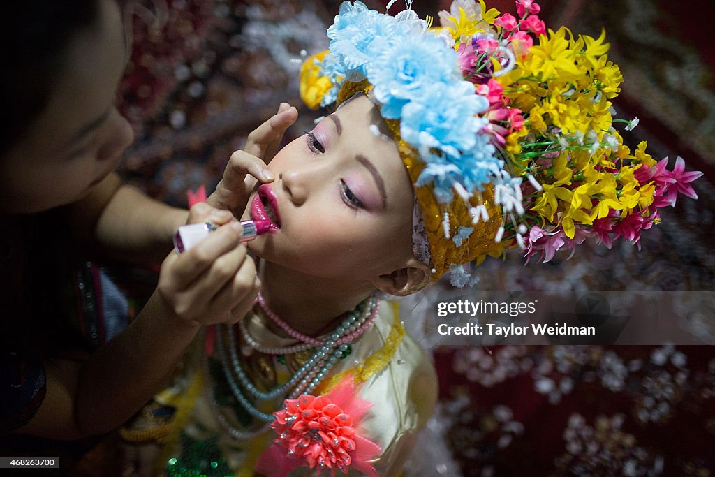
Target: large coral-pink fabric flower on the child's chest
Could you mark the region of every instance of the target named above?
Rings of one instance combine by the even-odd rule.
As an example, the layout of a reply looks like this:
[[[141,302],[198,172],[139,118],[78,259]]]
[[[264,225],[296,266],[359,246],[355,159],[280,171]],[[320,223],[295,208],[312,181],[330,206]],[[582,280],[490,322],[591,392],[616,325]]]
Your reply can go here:
[[[275,415],[271,427],[277,433],[273,444],[256,462],[255,470],[268,477],[280,477],[300,466],[349,468],[377,477],[367,461],[380,452],[380,446],[360,436],[356,428],[372,403],[355,394],[352,376],[347,375],[325,395],[300,395],[287,399],[285,408]]]

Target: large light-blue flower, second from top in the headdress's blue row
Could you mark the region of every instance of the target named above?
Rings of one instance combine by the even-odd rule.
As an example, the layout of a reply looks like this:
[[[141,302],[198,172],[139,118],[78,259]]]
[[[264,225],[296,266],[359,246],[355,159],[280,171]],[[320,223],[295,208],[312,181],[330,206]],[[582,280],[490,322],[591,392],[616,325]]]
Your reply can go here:
[[[368,79],[375,86],[375,99],[382,104],[380,114],[400,119],[403,106],[423,97],[425,89],[435,83],[457,82],[461,77],[453,49],[433,34],[413,31],[390,39],[368,66]]]

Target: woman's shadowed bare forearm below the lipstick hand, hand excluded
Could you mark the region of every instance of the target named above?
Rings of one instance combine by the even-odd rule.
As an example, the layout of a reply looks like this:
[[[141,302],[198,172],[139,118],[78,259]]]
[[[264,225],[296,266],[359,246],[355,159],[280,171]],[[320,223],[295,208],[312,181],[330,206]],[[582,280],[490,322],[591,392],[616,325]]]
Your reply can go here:
[[[46,395],[19,433],[76,440],[127,421],[162,387],[198,327],[154,310],[155,297],[114,340],[84,362],[44,363]]]

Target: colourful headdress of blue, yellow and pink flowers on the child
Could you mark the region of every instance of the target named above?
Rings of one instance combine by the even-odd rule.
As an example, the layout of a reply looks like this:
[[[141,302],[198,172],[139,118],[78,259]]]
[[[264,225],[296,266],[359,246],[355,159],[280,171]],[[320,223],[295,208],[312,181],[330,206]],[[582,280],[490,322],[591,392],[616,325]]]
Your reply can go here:
[[[512,247],[548,262],[587,237],[638,243],[658,207],[697,197],[683,159],[669,171],[645,142],[623,145],[613,124],[638,119],[613,119],[623,77],[605,32],[547,30],[532,0],[518,18],[455,0],[440,26],[411,3],[393,17],[343,2],[300,91],[312,108],[369,92],[415,187],[415,255],[433,280],[463,286],[464,264]]]

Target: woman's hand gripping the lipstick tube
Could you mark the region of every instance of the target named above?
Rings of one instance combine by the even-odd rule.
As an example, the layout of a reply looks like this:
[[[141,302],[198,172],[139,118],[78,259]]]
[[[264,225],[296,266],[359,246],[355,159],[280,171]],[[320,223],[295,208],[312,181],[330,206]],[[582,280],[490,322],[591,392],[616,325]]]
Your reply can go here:
[[[162,263],[157,293],[169,315],[192,327],[236,323],[260,288],[253,259],[240,243],[241,225],[227,210],[199,202],[187,223],[213,222],[218,230]]]

